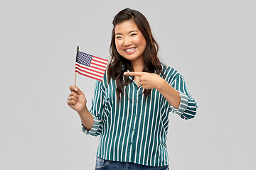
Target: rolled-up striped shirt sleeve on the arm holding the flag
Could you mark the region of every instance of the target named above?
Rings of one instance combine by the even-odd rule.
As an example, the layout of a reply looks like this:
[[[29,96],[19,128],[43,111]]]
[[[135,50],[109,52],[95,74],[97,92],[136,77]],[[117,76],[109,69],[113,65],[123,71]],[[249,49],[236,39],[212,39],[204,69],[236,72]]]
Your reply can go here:
[[[104,112],[105,112],[105,86],[102,81],[96,81],[94,96],[92,98],[92,108],[90,113],[92,114],[94,123],[90,130],[87,130],[84,125],[82,125],[82,132],[87,135],[98,136],[102,132],[104,125]]]

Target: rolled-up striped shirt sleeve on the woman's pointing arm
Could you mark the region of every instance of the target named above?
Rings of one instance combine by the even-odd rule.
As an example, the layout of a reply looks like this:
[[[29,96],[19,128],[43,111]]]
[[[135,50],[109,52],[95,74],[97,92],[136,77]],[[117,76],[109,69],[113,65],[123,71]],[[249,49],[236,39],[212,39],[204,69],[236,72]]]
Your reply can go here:
[[[178,109],[170,105],[169,110],[172,113],[180,115],[181,118],[186,120],[194,118],[196,115],[196,109],[198,108],[198,105],[195,99],[193,99],[189,94],[183,76],[181,74],[177,74],[176,79],[174,79],[174,81],[171,82],[171,86],[179,92],[181,97],[181,103],[178,106]]]

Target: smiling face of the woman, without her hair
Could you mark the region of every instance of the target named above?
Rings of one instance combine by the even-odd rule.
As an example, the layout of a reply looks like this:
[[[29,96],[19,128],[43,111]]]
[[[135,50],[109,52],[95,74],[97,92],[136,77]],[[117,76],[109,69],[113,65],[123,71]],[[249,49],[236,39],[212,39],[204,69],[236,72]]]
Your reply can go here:
[[[127,60],[142,62],[146,39],[133,20],[124,21],[114,28],[117,52]]]

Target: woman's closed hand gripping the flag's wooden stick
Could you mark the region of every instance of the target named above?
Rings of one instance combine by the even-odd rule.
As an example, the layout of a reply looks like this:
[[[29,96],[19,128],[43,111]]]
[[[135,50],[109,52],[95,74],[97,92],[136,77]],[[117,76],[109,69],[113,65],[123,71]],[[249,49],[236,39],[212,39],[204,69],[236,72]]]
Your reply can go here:
[[[85,94],[77,86],[70,86],[70,91],[71,93],[67,98],[68,106],[79,113],[86,108]]]

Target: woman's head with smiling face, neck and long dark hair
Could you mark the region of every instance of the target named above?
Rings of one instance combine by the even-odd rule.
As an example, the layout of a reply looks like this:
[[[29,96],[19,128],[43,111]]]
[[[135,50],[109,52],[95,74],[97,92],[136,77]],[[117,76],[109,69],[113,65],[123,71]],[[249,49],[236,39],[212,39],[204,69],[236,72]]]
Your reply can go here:
[[[124,81],[122,79],[122,74],[126,70],[160,74],[162,67],[157,57],[159,45],[154,40],[149,22],[142,13],[127,8],[117,13],[112,23],[114,26],[110,44],[112,59],[107,69],[107,75],[108,81],[110,81],[110,77],[116,79],[117,100],[120,100],[120,94],[123,92],[122,89],[130,82],[125,77]],[[136,49],[137,45],[139,49]],[[132,47],[135,47],[135,51],[129,51]],[[124,50],[127,51],[124,52]],[[130,57],[132,60],[126,57]],[[133,79],[139,84],[139,77],[133,77]],[[145,98],[150,94],[150,91],[151,89],[143,91]]]

